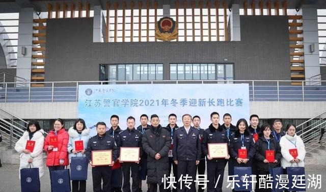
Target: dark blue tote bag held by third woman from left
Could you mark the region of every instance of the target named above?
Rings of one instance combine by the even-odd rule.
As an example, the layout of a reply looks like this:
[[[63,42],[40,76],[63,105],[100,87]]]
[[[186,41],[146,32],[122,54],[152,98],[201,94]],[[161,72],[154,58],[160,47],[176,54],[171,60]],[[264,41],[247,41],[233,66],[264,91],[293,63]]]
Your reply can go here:
[[[70,179],[87,180],[88,161],[86,157],[71,157]]]

